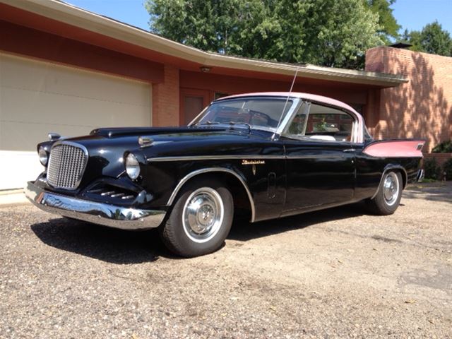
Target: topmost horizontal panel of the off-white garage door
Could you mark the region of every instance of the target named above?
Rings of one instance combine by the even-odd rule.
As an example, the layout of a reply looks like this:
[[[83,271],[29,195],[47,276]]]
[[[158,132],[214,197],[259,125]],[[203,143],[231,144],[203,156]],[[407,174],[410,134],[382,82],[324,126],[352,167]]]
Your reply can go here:
[[[6,54],[0,55],[0,86],[135,105],[150,105],[150,88],[147,83],[124,81],[115,76],[100,75],[92,71],[41,61],[30,61]]]

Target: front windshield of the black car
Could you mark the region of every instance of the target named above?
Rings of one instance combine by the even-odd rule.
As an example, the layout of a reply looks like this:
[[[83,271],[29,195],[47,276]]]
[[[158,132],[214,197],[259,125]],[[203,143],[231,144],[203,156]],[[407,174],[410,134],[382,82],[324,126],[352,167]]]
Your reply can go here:
[[[287,105],[286,105],[287,102]],[[250,129],[275,132],[278,123],[292,107],[286,97],[242,97],[219,100],[192,121],[193,125],[243,124]]]

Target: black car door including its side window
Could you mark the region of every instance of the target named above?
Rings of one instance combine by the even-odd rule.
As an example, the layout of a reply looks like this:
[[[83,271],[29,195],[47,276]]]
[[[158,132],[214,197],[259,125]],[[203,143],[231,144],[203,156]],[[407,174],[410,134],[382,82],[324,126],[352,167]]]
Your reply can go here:
[[[355,149],[350,139],[357,121],[335,107],[307,104],[281,140],[286,155],[283,215],[352,201]]]

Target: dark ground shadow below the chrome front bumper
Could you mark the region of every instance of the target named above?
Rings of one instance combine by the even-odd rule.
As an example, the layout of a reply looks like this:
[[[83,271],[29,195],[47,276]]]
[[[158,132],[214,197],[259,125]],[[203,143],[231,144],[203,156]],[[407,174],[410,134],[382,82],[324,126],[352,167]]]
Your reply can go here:
[[[66,218],[31,226],[44,243],[57,249],[109,263],[131,264],[177,258],[162,244],[156,230],[126,231]]]

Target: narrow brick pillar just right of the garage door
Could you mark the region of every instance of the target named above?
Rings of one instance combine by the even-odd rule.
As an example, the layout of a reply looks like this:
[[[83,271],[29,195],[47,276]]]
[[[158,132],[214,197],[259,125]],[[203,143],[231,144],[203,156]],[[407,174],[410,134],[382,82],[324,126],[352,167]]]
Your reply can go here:
[[[162,83],[153,84],[153,126],[179,126],[179,69],[165,65]]]

